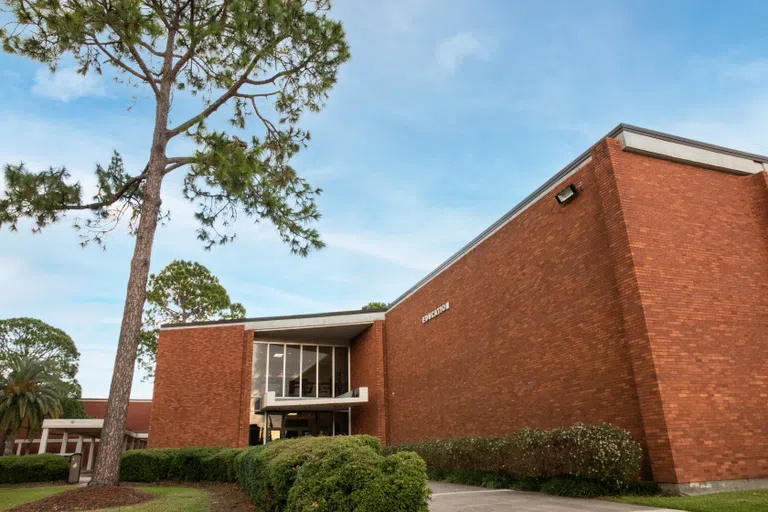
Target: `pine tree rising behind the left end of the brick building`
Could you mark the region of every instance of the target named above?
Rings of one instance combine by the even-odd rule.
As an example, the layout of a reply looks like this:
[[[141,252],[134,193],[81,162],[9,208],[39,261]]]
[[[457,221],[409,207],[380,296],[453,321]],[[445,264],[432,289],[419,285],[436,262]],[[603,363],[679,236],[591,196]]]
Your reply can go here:
[[[149,276],[139,366],[155,375],[157,341],[163,324],[243,318],[245,308],[229,299],[219,278],[197,262],[174,260]]]

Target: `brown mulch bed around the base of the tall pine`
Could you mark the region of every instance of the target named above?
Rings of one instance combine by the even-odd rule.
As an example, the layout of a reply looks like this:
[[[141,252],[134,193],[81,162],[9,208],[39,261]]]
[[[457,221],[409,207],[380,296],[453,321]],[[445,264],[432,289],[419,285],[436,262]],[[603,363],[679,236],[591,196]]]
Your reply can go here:
[[[154,496],[130,487],[80,487],[42,500],[25,503],[9,512],[74,512],[125,507],[149,501]]]

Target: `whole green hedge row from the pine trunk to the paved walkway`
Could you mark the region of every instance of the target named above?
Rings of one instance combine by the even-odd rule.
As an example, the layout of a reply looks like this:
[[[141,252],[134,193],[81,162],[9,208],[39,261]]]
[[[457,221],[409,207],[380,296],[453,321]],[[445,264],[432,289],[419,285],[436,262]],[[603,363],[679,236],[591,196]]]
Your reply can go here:
[[[371,436],[303,437],[247,449],[131,450],[120,478],[133,482],[237,482],[263,512],[426,512],[426,465],[414,453],[383,456]]]

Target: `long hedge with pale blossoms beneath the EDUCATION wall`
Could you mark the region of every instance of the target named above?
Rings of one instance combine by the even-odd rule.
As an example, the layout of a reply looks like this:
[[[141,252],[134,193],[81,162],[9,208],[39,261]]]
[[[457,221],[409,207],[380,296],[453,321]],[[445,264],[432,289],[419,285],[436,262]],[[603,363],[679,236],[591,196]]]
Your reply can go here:
[[[399,451],[418,453],[433,478],[577,496],[638,488],[642,461],[640,443],[612,425],[526,429],[507,437],[464,437],[387,448],[388,453]]]

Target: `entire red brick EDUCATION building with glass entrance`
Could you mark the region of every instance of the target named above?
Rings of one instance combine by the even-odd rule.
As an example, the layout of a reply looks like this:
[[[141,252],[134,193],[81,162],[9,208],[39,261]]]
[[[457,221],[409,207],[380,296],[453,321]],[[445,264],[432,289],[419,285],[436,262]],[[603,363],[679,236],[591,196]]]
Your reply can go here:
[[[386,311],[167,326],[150,446],[610,422],[768,483],[768,157],[620,125]]]

